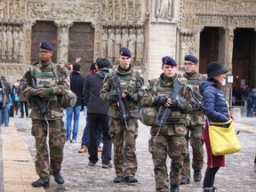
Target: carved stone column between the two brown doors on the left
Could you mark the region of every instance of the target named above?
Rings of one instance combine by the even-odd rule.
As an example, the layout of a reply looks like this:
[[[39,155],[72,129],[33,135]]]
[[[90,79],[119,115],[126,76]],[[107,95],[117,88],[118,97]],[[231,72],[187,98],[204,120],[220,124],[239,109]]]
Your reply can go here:
[[[72,21],[55,21],[54,24],[59,28],[58,31],[58,52],[57,52],[57,62],[62,64],[68,63],[68,28],[73,25]]]

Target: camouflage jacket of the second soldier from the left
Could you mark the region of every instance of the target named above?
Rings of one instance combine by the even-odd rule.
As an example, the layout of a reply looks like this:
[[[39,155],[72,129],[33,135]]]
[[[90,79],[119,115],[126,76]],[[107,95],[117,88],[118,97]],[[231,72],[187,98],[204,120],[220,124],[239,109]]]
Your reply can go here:
[[[118,76],[120,80],[120,90],[121,92],[129,92],[133,95],[134,100],[128,101],[129,111],[131,117],[138,118],[138,103],[139,103],[139,90],[140,87],[144,84],[144,79],[138,71],[135,71],[131,66],[131,69],[127,72],[123,72],[120,67],[116,70],[112,70],[105,77],[103,81],[103,86],[100,90],[100,97],[103,100],[109,102],[108,92],[114,90],[114,87],[111,83],[115,76]],[[108,116],[112,118],[121,118],[121,113],[119,107],[111,105],[108,110]]]

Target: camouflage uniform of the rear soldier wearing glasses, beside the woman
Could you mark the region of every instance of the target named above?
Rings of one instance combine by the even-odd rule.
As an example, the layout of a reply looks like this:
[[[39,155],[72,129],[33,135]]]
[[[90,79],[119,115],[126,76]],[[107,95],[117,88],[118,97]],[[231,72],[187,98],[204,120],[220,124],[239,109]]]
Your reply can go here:
[[[198,86],[201,81],[206,80],[206,76],[200,75],[198,73],[184,74],[184,77],[187,78],[187,83],[189,87],[194,92],[194,97],[200,102],[203,101],[203,97],[199,93]],[[188,126],[188,133],[185,136],[187,142],[189,140],[189,132],[190,132],[190,145],[193,149],[193,161],[192,168],[195,171],[201,171],[204,165],[204,138],[203,138],[203,130],[204,130],[204,110],[200,108],[197,104],[196,108],[193,109],[193,112],[190,114],[191,116],[191,124]],[[188,144],[187,144],[188,148]],[[188,178],[190,180],[190,160],[189,153],[184,157],[184,162],[181,170],[181,177]]]

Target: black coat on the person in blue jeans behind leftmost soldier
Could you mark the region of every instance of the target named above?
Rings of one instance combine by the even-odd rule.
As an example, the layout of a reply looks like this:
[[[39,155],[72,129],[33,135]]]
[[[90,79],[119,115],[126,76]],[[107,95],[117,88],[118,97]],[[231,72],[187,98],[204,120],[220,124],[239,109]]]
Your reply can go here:
[[[77,100],[76,106],[83,105],[83,87],[85,84],[85,78],[77,71],[72,71],[70,74],[70,90],[75,92]]]

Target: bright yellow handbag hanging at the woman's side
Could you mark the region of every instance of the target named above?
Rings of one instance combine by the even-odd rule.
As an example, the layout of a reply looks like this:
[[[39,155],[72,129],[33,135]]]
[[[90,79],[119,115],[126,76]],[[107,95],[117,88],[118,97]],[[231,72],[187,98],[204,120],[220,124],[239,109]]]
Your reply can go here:
[[[210,123],[209,136],[213,156],[228,155],[242,149],[232,119],[225,123]]]

